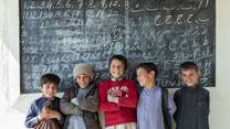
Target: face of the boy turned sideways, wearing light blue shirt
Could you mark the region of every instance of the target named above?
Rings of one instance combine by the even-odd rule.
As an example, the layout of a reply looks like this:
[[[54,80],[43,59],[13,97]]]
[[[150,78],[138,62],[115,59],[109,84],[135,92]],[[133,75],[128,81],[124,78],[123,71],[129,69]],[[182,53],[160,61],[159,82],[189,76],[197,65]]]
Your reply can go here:
[[[137,80],[142,87],[151,86],[155,80],[155,72],[147,72],[145,68],[139,67],[136,71]]]

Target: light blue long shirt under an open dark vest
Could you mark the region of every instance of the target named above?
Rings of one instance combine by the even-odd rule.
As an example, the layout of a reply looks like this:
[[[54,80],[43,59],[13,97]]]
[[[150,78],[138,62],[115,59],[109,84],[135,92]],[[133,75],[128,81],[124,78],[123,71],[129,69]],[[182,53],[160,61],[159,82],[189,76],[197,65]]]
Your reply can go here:
[[[172,118],[176,106],[171,95],[168,95],[168,108]],[[165,129],[160,87],[142,90],[137,105],[137,129]]]

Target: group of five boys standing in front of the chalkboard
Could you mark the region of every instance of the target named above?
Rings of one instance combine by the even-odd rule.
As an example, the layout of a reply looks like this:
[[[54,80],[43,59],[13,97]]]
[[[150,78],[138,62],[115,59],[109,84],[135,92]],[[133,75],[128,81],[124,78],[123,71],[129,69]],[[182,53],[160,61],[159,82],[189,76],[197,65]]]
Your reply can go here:
[[[76,64],[75,82],[61,99],[55,97],[60,77],[43,75],[43,95],[31,104],[25,126],[38,129],[42,121],[56,120],[60,129],[171,129],[175,120],[176,129],[209,129],[209,92],[199,85],[200,71],[194,62],[180,65],[182,87],[174,97],[157,84],[158,69],[154,63],[137,65],[139,92],[125,77],[127,67],[125,56],[112,56],[111,77],[97,86],[93,66]]]

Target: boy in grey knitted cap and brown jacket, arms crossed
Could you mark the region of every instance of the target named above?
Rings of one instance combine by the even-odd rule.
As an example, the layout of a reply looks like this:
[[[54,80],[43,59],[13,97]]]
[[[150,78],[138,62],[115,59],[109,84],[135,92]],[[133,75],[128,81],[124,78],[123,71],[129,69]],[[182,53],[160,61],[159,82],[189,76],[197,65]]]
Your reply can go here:
[[[100,129],[98,98],[94,68],[90,64],[76,64],[73,69],[75,84],[64,92],[61,110],[66,115],[65,129]]]

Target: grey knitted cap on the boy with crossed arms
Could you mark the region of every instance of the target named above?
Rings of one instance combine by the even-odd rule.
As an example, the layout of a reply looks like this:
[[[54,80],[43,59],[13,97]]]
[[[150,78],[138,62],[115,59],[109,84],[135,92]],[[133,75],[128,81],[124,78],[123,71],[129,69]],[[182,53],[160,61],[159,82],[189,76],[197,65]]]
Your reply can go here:
[[[86,63],[76,64],[73,68],[74,78],[76,77],[76,75],[81,75],[81,74],[88,75],[91,77],[91,79],[93,79],[94,67],[90,64],[86,64]]]

